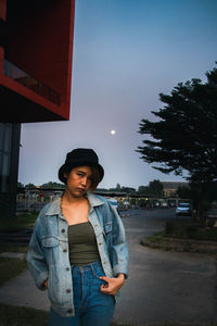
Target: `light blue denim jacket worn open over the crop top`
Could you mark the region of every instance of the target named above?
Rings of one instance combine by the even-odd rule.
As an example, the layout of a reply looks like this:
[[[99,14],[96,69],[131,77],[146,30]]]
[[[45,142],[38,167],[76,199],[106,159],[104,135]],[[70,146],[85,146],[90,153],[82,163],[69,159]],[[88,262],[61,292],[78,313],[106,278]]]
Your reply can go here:
[[[98,243],[101,263],[107,277],[128,276],[128,249],[125,230],[116,209],[101,196],[88,193],[89,222]],[[61,199],[40,212],[29,242],[27,262],[36,286],[46,290],[52,309],[62,316],[74,315],[73,280],[68,258],[67,222],[61,212]]]

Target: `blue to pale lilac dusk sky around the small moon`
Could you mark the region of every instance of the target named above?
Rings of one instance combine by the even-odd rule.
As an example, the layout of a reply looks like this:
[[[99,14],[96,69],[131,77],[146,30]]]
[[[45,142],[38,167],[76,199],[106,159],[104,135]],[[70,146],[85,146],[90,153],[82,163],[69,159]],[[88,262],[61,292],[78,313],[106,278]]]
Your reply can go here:
[[[217,0],[77,0],[71,120],[22,125],[18,180],[59,181],[66,153],[78,147],[97,151],[105,170],[99,187],[183,180],[140,159],[139,123],[163,108],[159,92],[206,80],[216,34]]]

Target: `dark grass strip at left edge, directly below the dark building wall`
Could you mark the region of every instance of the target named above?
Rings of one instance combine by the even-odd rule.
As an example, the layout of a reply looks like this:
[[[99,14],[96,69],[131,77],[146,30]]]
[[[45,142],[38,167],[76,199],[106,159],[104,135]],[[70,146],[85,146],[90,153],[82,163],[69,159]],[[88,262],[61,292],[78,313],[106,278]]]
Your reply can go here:
[[[15,217],[0,218],[0,233],[15,233],[34,227],[37,213],[24,213]]]

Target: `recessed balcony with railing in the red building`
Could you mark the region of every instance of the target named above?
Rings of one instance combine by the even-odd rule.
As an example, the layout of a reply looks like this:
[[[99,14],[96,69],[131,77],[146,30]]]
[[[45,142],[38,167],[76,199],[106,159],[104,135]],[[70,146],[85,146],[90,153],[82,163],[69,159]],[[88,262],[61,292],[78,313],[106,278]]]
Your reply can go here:
[[[38,93],[42,98],[49,100],[50,102],[61,105],[61,96],[50,87],[43,85],[36,78],[29,76],[27,73],[18,68],[16,65],[8,60],[3,60],[3,74],[9,78],[17,82],[18,84],[25,86],[26,88]]]

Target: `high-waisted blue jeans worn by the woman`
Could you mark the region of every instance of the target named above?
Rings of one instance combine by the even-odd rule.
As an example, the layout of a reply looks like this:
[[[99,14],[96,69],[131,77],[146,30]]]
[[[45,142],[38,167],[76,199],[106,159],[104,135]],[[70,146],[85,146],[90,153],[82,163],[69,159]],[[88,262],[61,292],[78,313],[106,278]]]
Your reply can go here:
[[[49,326],[110,326],[115,309],[113,296],[100,291],[104,276],[100,262],[72,266],[75,316],[62,317],[52,309]],[[105,284],[105,283],[104,283]]]

